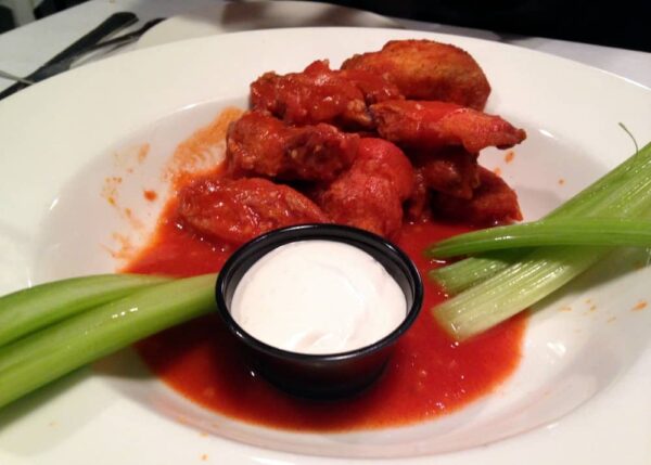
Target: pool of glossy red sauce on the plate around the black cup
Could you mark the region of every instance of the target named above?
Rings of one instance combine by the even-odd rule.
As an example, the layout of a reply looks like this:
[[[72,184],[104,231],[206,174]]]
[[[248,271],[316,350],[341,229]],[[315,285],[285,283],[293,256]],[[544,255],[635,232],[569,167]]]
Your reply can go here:
[[[179,276],[217,271],[230,246],[203,242],[179,227],[167,206],[151,245],[127,269]],[[356,398],[317,402],[285,395],[253,373],[217,317],[203,318],[150,337],[137,349],[175,390],[207,409],[244,422],[285,429],[345,430],[420,422],[452,412],[489,393],[518,366],[525,319],[514,318],[463,344],[452,341],[430,309],[443,293],[426,279],[422,257],[432,242],[465,231],[422,223],[404,228],[398,245],[413,258],[425,283],[423,310],[387,370]]]

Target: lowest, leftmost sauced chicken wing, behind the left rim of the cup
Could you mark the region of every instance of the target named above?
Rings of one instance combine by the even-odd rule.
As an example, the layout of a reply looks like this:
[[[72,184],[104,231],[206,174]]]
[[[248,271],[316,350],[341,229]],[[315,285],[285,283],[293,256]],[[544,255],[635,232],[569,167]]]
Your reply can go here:
[[[233,244],[277,228],[329,222],[303,194],[261,178],[199,179],[180,191],[178,215],[202,236]]]

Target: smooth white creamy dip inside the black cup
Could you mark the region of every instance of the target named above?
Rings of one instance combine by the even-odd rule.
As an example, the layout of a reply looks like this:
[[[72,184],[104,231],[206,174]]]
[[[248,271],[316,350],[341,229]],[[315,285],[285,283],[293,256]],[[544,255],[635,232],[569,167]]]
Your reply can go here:
[[[334,241],[282,245],[242,277],[233,319],[270,346],[337,353],[375,343],[407,314],[396,281],[366,251]]]

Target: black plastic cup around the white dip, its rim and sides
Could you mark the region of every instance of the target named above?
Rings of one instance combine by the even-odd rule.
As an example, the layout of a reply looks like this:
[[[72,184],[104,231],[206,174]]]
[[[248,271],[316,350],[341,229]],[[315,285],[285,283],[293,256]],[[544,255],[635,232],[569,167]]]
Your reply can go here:
[[[336,241],[358,247],[374,257],[400,286],[407,314],[398,327],[382,339],[341,353],[297,353],[265,344],[244,331],[231,317],[230,303],[240,280],[272,249],[298,241]],[[423,285],[409,257],[395,245],[369,232],[335,224],[302,224],[261,235],[240,247],[225,263],[216,287],[218,312],[229,331],[248,351],[254,370],[293,395],[332,399],[354,395],[375,380],[398,338],[416,320],[423,299]]]

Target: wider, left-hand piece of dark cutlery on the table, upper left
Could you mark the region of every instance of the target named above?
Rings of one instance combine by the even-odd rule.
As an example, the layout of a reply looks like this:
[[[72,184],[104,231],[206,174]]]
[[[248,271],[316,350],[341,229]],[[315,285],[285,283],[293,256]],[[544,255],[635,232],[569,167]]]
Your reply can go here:
[[[84,50],[97,44],[100,40],[104,39],[105,37],[127,26],[130,26],[136,22],[138,22],[138,16],[136,16],[133,13],[119,12],[112,14],[98,27],[92,29],[90,33],[86,34],[84,37],[74,42],[72,46],[67,47],[65,50],[52,56],[42,66],[40,66],[30,75],[25,76],[23,79],[26,81],[38,82],[39,80],[47,79],[50,76],[53,76],[54,74],[65,70],[61,69],[61,67],[59,67],[58,64],[66,62],[71,56],[78,56],[79,53]],[[56,70],[56,73],[53,73],[53,70]],[[2,92],[0,92],[0,100],[26,88],[27,86],[29,85],[25,82],[16,82],[8,87]]]

